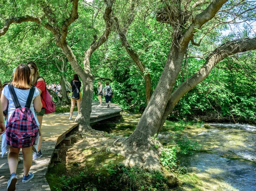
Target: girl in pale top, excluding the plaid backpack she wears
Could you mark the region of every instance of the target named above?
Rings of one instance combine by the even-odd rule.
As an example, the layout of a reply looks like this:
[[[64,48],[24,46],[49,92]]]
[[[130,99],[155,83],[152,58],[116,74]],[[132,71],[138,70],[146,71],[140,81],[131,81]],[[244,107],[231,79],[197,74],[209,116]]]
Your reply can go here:
[[[15,90],[15,93],[17,94],[17,98],[19,100],[21,107],[24,107],[26,105],[26,100],[29,95],[29,90],[30,88],[32,88],[31,80],[32,80],[32,76],[31,76],[31,71],[29,66],[25,64],[20,64],[19,66],[17,66],[12,84],[14,86],[14,90]],[[1,94],[1,103],[3,104],[3,110],[5,110],[8,106],[8,116],[7,116],[6,124],[8,122],[8,119],[10,119],[12,113],[15,110],[15,104],[13,103],[8,86],[3,88],[3,91]],[[39,90],[36,88],[35,93],[33,95],[32,103],[30,105],[30,109],[35,115],[35,111],[41,111],[41,108],[42,108],[41,98],[39,95]],[[36,120],[36,117],[35,117],[35,120]],[[37,121],[37,124],[39,124],[38,121]],[[14,148],[10,145],[7,145],[7,146],[9,147],[8,163],[9,163],[9,169],[11,174],[10,180],[8,181],[8,184],[7,184],[7,190],[14,191],[15,185],[17,182],[16,171],[17,171],[20,148]],[[2,143],[2,148],[3,148],[3,143]],[[32,173],[29,173],[29,169],[32,165],[32,146],[27,148],[22,148],[22,153],[23,153],[23,168],[24,168],[22,182],[28,182],[34,177]]]

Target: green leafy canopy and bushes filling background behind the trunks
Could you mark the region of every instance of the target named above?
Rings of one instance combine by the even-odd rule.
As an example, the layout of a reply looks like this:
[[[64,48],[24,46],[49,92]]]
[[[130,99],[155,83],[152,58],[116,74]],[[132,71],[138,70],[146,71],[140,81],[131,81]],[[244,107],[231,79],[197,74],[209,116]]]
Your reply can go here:
[[[0,26],[5,23],[3,18],[24,15],[43,18],[43,23],[45,23],[47,17],[42,17],[42,5],[47,5],[52,9],[53,12],[50,13],[50,16],[55,17],[57,26],[60,26],[69,17],[70,1],[42,2],[38,3],[38,1],[32,0],[0,2]],[[244,10],[245,6],[248,9],[252,7],[248,2],[248,5],[244,5],[243,8],[233,6],[233,3],[233,1],[227,2],[223,8],[232,7],[237,11],[238,9]],[[127,30],[128,43],[145,66],[144,74],[122,47],[116,30],[111,32],[108,41],[98,48],[90,58],[90,69],[95,79],[103,79],[104,83],[107,79],[112,81],[111,86],[115,95],[113,102],[119,104],[123,110],[142,112],[146,107],[143,75],[145,73],[151,75],[152,94],[162,74],[172,43],[172,29],[157,22],[155,17],[152,17],[152,12],[155,8],[161,9],[163,6],[162,3],[157,2],[140,2],[139,5],[136,5],[137,14],[134,21]],[[79,18],[68,28],[66,40],[80,66],[83,66],[84,51],[90,47],[93,37],[101,36],[104,31],[105,23],[102,19],[104,7],[104,2],[99,0],[93,0],[90,5],[79,1]],[[205,8],[205,5],[201,5],[198,10]],[[100,11],[98,11],[99,9]],[[131,5],[118,0],[114,3],[113,10],[116,15],[119,15],[121,28],[126,26],[127,18],[131,14]],[[198,10],[192,12],[193,16],[199,13]],[[243,17],[250,20],[255,19],[253,10],[244,11]],[[219,20],[230,20],[228,14],[222,15],[221,11],[218,14],[221,15]],[[97,17],[93,18],[95,15]],[[210,20],[200,30],[197,30],[194,40],[198,42],[201,37],[204,36],[204,38],[200,47],[189,44],[188,57],[195,54],[207,57],[221,43],[234,40],[238,36],[247,38],[254,35],[253,31],[248,31],[249,23],[244,23],[243,28],[236,33],[229,32],[228,35],[223,35],[224,31],[230,30],[230,27],[227,24],[217,25],[216,22],[218,21]],[[189,23],[190,21],[186,22],[186,25]],[[212,26],[217,27],[208,31]],[[52,34],[43,26],[32,22],[12,24],[0,39],[0,79],[2,83],[11,79],[13,68],[30,60],[35,60],[38,64],[39,72],[47,83],[59,83],[61,73],[55,63],[60,64],[61,61],[58,58],[64,54],[55,45]],[[177,120],[241,120],[256,123],[255,57],[256,51],[250,51],[222,60],[207,79],[183,96],[170,117]],[[184,61],[175,88],[195,74],[204,63],[204,59],[198,58],[188,58],[186,62]],[[71,80],[73,74],[74,71],[68,63],[65,73],[68,81]],[[96,81],[94,87],[96,92]],[[93,95],[93,99],[97,100],[96,94]],[[178,130],[178,127],[175,128]]]

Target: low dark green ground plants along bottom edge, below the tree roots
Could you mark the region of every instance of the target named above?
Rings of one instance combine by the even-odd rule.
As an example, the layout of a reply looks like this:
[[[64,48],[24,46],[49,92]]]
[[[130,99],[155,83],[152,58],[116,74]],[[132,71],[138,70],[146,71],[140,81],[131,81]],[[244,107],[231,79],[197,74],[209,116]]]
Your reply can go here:
[[[81,171],[75,176],[63,175],[57,185],[53,191],[167,191],[175,186],[160,172],[113,163],[103,165],[93,174]]]

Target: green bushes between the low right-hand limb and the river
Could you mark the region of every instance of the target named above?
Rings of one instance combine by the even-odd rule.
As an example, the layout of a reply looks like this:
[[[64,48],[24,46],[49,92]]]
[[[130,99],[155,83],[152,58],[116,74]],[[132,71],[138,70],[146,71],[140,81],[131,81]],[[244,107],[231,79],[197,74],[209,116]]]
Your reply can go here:
[[[220,122],[233,121],[234,118],[236,121],[255,123],[256,84],[252,81],[256,77],[256,67],[253,65],[255,55],[253,51],[236,57],[232,62],[224,60],[219,63],[221,68],[213,69],[207,79],[180,100],[171,118],[211,119]],[[188,62],[191,66],[199,66],[201,63],[200,60],[191,61]],[[197,69],[194,68],[194,72]],[[178,79],[177,85],[181,83],[181,79]]]

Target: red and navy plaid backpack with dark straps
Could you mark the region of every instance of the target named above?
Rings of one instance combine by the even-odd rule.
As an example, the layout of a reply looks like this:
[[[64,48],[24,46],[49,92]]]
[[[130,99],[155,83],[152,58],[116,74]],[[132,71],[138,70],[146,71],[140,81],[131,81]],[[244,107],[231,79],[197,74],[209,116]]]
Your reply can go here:
[[[8,87],[16,109],[6,125],[7,144],[15,148],[31,147],[38,137],[38,125],[34,114],[30,110],[35,86],[29,91],[25,107],[20,106],[12,83]]]

